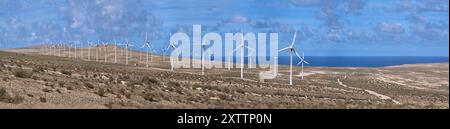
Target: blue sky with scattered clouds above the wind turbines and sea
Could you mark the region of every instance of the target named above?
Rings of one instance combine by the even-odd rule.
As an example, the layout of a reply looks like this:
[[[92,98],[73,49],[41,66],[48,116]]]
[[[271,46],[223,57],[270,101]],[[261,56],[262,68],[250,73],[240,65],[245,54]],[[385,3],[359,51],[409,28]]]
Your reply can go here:
[[[279,33],[279,48],[297,32],[308,56],[448,56],[448,20],[448,0],[0,0],[0,48],[141,46],[147,33],[161,52],[171,33],[199,24],[202,33]]]

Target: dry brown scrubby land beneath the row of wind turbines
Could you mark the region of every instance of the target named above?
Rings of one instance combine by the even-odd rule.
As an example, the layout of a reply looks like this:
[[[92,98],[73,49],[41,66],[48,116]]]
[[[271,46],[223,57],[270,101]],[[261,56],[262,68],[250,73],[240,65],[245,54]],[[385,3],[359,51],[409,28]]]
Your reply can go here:
[[[0,108],[449,108],[449,63],[306,67],[304,80],[295,67],[291,86],[286,66],[260,82],[259,69],[245,69],[244,80],[236,68],[170,71],[161,56],[145,67],[136,51],[130,65],[122,51],[115,64],[111,46],[107,63],[95,48],[91,61],[88,49],[39,50],[0,52]]]

